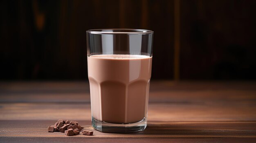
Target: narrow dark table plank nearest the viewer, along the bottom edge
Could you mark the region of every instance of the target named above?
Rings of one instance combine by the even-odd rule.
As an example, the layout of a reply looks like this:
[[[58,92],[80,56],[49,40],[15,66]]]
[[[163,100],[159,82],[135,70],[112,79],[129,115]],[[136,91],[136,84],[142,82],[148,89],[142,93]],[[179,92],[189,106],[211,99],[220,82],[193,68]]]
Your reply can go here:
[[[254,138],[191,138],[191,139],[167,139],[167,138],[27,138],[27,137],[2,137],[4,143],[255,143]]]

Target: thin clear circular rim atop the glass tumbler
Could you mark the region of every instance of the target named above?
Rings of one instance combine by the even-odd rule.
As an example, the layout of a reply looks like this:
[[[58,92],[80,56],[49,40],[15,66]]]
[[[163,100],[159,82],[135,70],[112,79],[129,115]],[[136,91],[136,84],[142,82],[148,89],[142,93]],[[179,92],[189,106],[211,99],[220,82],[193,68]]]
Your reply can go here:
[[[86,33],[91,34],[150,34],[151,30],[145,29],[90,29]]]

